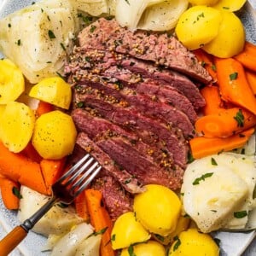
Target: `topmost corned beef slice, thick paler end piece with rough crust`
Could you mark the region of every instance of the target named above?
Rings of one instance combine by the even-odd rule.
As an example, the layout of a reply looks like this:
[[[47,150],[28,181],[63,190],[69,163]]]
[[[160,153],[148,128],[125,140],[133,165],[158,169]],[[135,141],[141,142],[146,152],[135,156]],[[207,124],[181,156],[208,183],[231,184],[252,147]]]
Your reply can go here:
[[[86,49],[108,49],[128,54],[156,65],[171,67],[209,83],[212,78],[195,55],[167,33],[130,32],[116,20],[101,18],[79,33],[79,45]]]

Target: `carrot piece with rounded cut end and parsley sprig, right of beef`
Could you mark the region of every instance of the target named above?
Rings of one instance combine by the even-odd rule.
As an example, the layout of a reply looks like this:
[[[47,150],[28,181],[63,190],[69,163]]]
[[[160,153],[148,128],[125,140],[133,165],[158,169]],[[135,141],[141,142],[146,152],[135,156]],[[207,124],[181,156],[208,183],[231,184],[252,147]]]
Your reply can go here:
[[[230,137],[256,125],[256,116],[246,109],[230,108],[208,114],[195,122],[195,131],[205,137]]]

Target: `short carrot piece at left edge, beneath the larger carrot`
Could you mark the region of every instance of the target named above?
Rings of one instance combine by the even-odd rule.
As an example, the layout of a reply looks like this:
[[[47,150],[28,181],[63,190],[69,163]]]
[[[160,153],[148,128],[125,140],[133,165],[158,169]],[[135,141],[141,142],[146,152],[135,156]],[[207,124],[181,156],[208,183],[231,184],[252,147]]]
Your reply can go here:
[[[20,185],[8,177],[0,177],[3,205],[9,210],[18,210],[20,204]]]

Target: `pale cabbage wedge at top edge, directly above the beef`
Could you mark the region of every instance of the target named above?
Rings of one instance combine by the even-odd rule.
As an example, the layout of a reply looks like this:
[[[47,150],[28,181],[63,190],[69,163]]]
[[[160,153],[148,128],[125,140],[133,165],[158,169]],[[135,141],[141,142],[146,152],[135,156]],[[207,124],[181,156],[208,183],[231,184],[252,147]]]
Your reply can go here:
[[[187,0],[117,0],[115,16],[121,26],[131,31],[137,28],[166,31],[176,26],[187,8]]]

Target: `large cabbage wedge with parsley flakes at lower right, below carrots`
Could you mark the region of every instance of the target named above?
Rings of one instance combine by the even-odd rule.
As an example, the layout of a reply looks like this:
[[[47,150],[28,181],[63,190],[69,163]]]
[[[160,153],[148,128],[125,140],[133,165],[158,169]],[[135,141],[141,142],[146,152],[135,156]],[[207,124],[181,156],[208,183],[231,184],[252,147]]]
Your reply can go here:
[[[223,153],[189,164],[183,177],[183,208],[202,232],[241,229],[255,207],[254,156]]]

